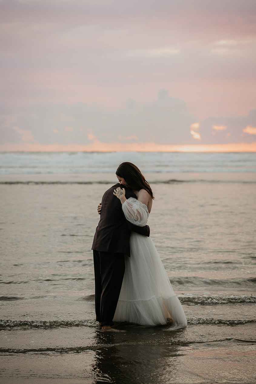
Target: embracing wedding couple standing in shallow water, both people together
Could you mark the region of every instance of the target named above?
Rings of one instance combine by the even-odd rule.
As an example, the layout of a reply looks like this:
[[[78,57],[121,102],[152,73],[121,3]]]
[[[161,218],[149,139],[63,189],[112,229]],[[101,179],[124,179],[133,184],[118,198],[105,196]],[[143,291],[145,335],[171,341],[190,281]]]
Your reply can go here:
[[[92,243],[96,320],[103,330],[116,322],[187,326],[147,224],[154,195],[139,168],[120,164],[118,183],[103,195]]]

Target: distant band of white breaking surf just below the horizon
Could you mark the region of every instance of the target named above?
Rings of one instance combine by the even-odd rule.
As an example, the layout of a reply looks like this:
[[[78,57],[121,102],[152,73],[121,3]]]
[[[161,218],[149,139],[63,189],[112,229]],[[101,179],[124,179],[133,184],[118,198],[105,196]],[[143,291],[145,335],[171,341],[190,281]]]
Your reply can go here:
[[[113,174],[123,161],[146,174],[256,172],[254,152],[0,152],[0,174]]]

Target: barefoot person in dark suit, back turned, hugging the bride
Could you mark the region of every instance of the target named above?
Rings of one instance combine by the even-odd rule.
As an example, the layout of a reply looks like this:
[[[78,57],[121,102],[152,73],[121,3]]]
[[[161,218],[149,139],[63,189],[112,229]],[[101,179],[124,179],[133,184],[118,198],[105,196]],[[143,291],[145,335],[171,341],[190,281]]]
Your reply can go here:
[[[126,198],[136,195],[124,185]],[[119,183],[112,185],[102,197],[101,218],[92,243],[95,276],[96,320],[102,329],[110,329],[124,277],[124,255],[130,256],[130,231],[149,237],[148,225],[139,227],[128,222],[122,204],[113,192]]]

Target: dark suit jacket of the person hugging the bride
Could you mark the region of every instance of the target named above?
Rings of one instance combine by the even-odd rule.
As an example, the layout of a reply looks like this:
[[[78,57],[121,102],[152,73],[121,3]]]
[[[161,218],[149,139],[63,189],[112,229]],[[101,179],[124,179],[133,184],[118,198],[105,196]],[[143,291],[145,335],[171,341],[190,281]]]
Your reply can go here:
[[[126,220],[122,211],[122,204],[113,194],[114,189],[120,187],[119,183],[112,185],[102,197],[101,218],[96,228],[92,249],[95,251],[109,253],[124,253],[130,256],[130,231],[140,233],[149,237],[150,229],[148,225],[139,227]],[[124,188],[124,186],[121,186]],[[136,195],[126,189],[126,199]]]

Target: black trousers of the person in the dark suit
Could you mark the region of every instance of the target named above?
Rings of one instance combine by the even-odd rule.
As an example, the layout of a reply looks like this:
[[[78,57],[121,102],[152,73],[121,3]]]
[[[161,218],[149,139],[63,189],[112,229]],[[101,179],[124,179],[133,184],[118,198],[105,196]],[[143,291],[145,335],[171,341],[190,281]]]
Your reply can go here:
[[[124,278],[124,253],[93,251],[96,320],[113,325]]]

